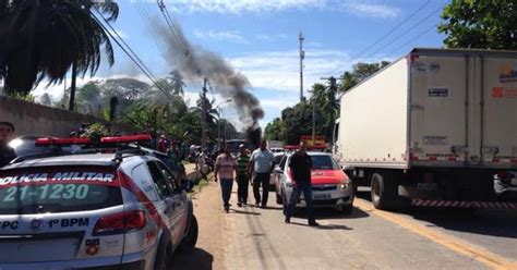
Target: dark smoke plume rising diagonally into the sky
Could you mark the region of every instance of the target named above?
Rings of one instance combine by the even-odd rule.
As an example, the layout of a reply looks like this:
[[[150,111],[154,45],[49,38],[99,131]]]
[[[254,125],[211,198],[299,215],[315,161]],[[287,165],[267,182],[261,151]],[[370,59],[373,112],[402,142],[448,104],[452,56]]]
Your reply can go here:
[[[159,27],[167,45],[168,63],[179,70],[187,81],[200,82],[206,77],[215,91],[226,99],[231,98],[240,121],[248,127],[247,136],[250,140],[255,139],[256,135],[251,133],[258,131],[261,134],[258,121],[264,118],[264,111],[258,99],[245,89],[251,86],[248,77],[237,72],[221,56],[192,46],[178,25],[175,22],[172,30],[167,25]]]

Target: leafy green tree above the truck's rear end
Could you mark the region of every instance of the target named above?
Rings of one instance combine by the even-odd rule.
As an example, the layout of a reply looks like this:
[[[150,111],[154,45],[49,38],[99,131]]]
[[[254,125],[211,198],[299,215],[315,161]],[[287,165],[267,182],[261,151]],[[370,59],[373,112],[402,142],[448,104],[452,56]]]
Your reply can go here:
[[[438,32],[449,48],[517,49],[516,0],[453,0]]]

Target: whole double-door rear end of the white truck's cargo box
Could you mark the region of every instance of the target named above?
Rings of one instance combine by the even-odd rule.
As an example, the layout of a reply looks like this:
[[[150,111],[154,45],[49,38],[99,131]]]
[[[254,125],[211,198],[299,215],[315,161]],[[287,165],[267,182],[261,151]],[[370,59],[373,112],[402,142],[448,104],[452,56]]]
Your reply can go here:
[[[515,56],[420,54],[411,66],[412,167],[515,167]]]

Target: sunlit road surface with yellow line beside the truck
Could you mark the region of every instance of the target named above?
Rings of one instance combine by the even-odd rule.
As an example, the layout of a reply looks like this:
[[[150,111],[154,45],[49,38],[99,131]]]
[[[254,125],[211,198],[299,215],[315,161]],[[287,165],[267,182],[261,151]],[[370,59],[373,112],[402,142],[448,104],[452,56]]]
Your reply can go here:
[[[352,214],[321,209],[310,228],[303,210],[285,224],[272,195],[267,209],[239,208],[233,193],[225,213],[218,185],[206,186],[194,199],[197,249],[176,256],[175,269],[517,269],[515,211],[392,213],[360,193]]]

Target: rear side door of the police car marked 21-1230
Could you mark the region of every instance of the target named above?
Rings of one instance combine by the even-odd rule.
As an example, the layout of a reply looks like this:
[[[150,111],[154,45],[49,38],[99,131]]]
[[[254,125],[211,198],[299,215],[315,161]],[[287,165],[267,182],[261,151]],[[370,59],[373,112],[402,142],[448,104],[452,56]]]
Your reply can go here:
[[[170,234],[172,235],[172,238],[175,238],[177,236],[173,233],[175,207],[172,202],[172,186],[166,180],[165,175],[160,172],[160,169],[158,168],[158,162],[148,161],[147,167],[149,169],[151,176],[153,177],[156,192],[159,196],[158,204],[160,204],[160,209],[163,209],[163,213],[166,217],[164,222],[166,223],[167,230],[169,230]]]

